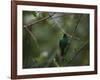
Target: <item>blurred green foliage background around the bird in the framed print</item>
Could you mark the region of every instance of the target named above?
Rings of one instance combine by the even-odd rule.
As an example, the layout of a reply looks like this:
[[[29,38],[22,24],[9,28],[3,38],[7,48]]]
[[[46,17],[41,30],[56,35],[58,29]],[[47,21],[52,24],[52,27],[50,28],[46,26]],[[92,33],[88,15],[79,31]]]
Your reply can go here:
[[[70,44],[62,60],[59,41],[64,33]],[[89,14],[23,11],[23,68],[85,65],[89,65]]]

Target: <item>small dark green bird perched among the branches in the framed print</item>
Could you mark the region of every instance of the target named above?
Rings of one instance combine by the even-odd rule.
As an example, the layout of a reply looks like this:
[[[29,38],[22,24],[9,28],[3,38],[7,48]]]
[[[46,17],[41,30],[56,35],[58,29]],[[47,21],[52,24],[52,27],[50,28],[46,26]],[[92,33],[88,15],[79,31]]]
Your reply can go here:
[[[59,42],[59,47],[60,47],[60,51],[61,51],[61,57],[63,58],[65,55],[65,49],[68,46],[68,36],[67,34],[63,35],[63,38],[60,40]]]

